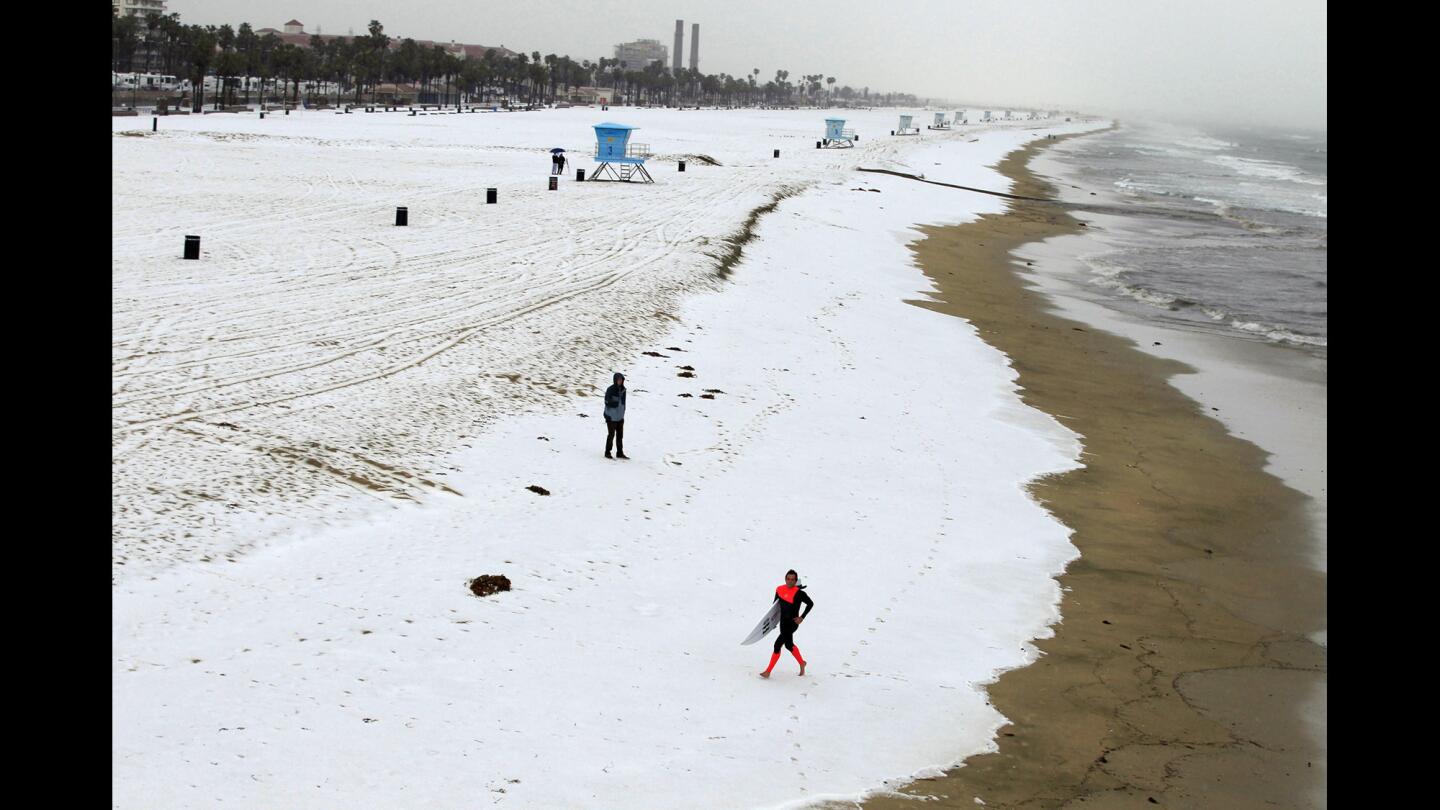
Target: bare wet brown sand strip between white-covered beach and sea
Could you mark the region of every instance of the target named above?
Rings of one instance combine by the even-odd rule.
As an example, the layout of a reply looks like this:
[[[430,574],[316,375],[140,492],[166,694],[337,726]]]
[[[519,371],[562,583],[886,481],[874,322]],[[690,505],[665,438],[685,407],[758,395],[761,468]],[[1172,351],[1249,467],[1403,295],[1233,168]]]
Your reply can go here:
[[[1053,193],[1028,169],[1044,146],[999,163],[1015,195]],[[1086,466],[1028,487],[1081,556],[1057,578],[1044,656],[988,686],[1009,725],[992,752],[901,793],[942,807],[1325,806],[1303,719],[1326,673],[1308,637],[1326,611],[1310,499],[1171,385],[1191,366],[1060,316],[1027,278],[1015,249],[1084,232],[1064,209],[1018,202],[922,232],[912,249],[939,293],[913,303],[1009,356],[1025,404],[1084,437]]]

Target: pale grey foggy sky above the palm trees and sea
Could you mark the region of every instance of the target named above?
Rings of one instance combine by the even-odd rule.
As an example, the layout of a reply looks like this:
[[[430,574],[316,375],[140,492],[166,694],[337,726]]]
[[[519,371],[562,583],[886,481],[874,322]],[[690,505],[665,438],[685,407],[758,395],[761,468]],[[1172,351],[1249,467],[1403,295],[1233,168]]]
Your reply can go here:
[[[503,45],[575,61],[700,23],[700,69],[937,102],[1326,128],[1325,0],[170,0],[184,23]]]

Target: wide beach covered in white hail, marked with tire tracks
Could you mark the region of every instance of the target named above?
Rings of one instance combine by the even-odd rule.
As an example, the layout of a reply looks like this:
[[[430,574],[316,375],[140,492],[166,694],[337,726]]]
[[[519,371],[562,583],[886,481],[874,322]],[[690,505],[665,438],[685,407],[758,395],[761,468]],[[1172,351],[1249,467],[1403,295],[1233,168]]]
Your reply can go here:
[[[916,306],[910,244],[1109,123],[831,115],[854,148],[825,111],[114,120],[115,806],[785,807],[994,751],[1083,437]],[[655,183],[575,180],[605,121]],[[762,680],[789,568],[809,667]]]

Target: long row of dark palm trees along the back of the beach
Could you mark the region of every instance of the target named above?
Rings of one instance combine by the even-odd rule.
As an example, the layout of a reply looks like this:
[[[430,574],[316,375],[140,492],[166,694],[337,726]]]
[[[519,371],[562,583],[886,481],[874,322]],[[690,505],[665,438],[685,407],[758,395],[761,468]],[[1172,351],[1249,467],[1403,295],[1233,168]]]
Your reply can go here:
[[[212,102],[249,102],[251,84],[240,76],[259,78],[261,98],[266,92],[298,102],[324,97],[334,88],[334,102],[343,95],[356,104],[374,102],[384,84],[413,88],[415,101],[458,104],[462,99],[490,104],[492,99],[523,104],[564,101],[576,86],[608,88],[615,104],[710,104],[727,107],[796,104],[916,104],[909,94],[870,94],[870,88],[835,86],[835,76],[804,75],[792,82],[789,71],[759,82],[760,69],[732,76],[701,74],[681,68],[671,74],[660,61],[628,65],[616,59],[583,59],[550,53],[503,53],[490,49],[480,59],[464,52],[413,39],[395,42],[379,20],[370,20],[364,35],[323,37],[312,35],[308,46],[284,42],[274,33],[256,35],[249,23],[238,29],[181,25],[180,14],[112,17],[115,46],[114,69],[135,71],[141,62],[148,71],[189,78],[194,88],[193,110],[204,105],[204,78],[219,78],[219,94]],[[395,88],[389,98],[395,101]]]

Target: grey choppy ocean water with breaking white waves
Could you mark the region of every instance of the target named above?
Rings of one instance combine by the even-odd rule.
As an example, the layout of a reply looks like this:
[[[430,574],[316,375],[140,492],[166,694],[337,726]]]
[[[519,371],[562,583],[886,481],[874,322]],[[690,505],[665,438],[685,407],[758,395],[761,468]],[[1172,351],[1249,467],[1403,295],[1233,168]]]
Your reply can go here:
[[[1083,259],[1120,306],[1325,355],[1326,150],[1315,131],[1123,123],[1053,154],[1119,215]]]

